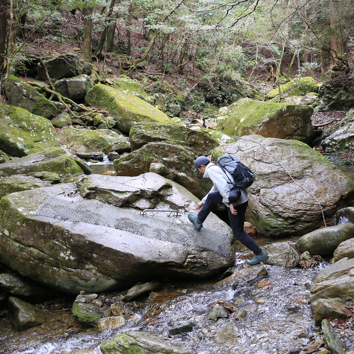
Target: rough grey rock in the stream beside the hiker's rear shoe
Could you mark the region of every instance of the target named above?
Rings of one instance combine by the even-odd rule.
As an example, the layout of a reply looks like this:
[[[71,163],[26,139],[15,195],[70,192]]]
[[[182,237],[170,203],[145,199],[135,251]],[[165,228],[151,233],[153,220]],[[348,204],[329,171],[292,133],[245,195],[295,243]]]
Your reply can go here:
[[[269,259],[263,262],[265,264],[295,268],[299,262],[299,255],[287,242],[275,242],[262,247],[262,250],[269,256]]]

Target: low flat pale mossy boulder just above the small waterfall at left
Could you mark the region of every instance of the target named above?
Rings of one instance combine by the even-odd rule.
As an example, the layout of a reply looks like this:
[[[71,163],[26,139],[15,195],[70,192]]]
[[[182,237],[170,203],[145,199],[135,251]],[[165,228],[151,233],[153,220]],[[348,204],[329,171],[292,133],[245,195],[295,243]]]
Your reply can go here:
[[[108,129],[64,128],[58,132],[59,140],[67,145],[70,151],[101,152],[114,145],[117,152],[130,151],[129,139]]]

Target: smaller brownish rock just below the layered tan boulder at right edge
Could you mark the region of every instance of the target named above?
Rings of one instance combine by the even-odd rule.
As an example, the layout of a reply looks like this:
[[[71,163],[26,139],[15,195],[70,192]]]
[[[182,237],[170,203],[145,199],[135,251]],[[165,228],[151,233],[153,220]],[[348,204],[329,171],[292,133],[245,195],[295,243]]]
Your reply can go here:
[[[321,325],[325,318],[346,319],[352,316],[350,311],[342,302],[333,299],[319,299],[315,307],[315,325]]]

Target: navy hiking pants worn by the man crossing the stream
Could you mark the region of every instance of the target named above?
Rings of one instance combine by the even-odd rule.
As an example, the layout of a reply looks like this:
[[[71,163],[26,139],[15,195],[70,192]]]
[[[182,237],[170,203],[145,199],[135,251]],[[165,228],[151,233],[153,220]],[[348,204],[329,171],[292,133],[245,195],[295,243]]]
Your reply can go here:
[[[211,192],[208,194],[206,201],[198,213],[198,219],[200,223],[203,223],[213,206],[216,204],[223,204],[222,196],[219,192]],[[248,206],[248,201],[245,203],[235,206],[237,210],[237,215],[231,213],[230,208],[228,209],[230,225],[234,236],[241,242],[242,245],[246,246],[251,250],[255,255],[260,255],[262,253],[261,247],[259,247],[256,242],[247,234],[244,230],[245,222],[245,212]]]

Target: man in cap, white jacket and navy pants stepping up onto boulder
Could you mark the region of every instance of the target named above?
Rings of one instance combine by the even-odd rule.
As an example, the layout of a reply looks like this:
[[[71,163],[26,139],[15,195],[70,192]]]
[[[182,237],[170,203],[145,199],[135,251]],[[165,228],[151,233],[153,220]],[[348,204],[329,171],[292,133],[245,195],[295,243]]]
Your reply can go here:
[[[239,160],[238,160],[239,161]],[[233,190],[234,199],[230,199],[229,194],[232,186],[229,186],[228,181],[233,182],[233,177],[230,173],[221,169],[216,164],[209,161],[206,156],[200,156],[195,160],[195,170],[203,175],[204,178],[210,178],[214,185],[210,192],[196,205],[196,209],[200,210],[198,217],[193,213],[188,214],[188,219],[192,222],[196,230],[202,228],[204,220],[211,212],[213,206],[216,204],[225,204],[228,208],[230,225],[234,236],[250,249],[254,254],[248,264],[254,265],[267,260],[269,257],[267,253],[263,252],[256,242],[244,230],[245,212],[248,205],[248,193],[246,188],[237,188]],[[235,196],[236,195],[236,196]]]

